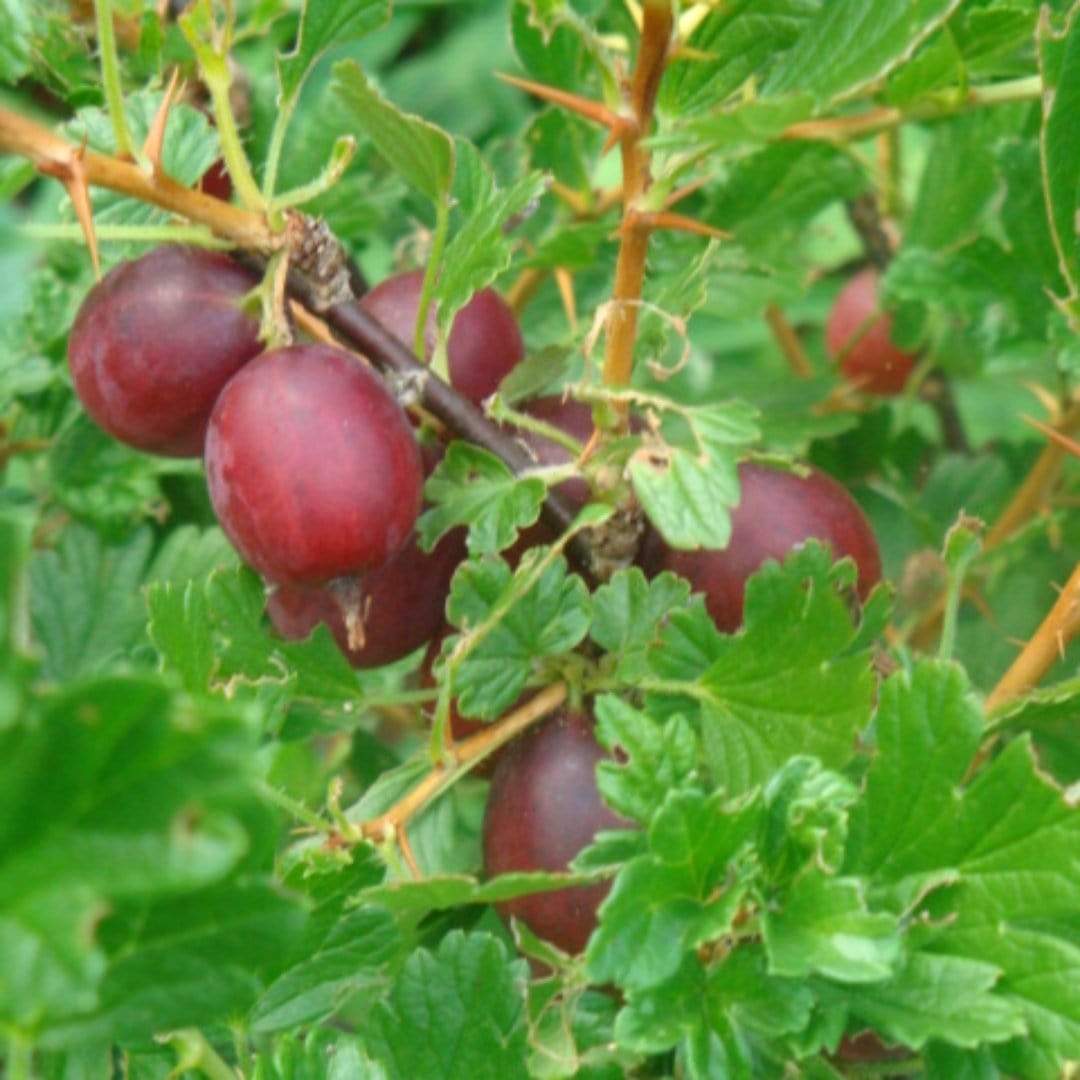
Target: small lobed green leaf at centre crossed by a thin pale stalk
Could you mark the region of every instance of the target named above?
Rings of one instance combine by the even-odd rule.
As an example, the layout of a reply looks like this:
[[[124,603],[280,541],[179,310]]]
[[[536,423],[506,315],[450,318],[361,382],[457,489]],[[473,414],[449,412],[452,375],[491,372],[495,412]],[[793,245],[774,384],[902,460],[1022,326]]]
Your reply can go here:
[[[523,582],[534,561],[516,573],[502,559],[470,559],[454,576],[447,612],[455,626],[469,630],[504,612],[461,661],[454,688],[464,716],[494,719],[517,700],[532,661],[572,649],[589,631],[589,591],[558,556],[527,592]]]

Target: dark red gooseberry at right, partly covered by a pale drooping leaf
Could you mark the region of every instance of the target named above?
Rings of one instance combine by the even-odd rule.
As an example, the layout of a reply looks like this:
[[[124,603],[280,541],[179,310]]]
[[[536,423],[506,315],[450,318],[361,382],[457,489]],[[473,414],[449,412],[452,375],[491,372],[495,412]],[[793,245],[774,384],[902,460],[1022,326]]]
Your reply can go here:
[[[731,540],[723,551],[674,551],[650,535],[642,562],[647,572],[672,570],[694,592],[726,632],[743,619],[746,579],[766,561],[782,561],[811,538],[826,543],[836,558],[850,555],[859,570],[861,598],[881,580],[877,540],[854,499],[825,473],[806,475],[745,461],[739,467],[742,495],[731,515]]]

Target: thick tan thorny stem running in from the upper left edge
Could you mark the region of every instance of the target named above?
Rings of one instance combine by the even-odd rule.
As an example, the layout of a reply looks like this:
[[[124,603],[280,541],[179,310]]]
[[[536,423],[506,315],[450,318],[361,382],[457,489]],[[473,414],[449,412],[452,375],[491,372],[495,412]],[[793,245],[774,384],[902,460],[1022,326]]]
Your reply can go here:
[[[167,176],[145,173],[138,165],[68,143],[48,127],[0,108],[0,151],[28,158],[43,172],[60,175],[78,161],[87,184],[109,188],[170,213],[205,225],[215,235],[269,254],[282,246],[265,217],[177,184]]]

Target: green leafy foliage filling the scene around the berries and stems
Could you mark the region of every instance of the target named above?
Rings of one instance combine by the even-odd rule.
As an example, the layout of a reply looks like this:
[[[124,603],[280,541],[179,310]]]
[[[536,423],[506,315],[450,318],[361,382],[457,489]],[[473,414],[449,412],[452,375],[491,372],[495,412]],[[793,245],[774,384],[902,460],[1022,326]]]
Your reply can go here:
[[[604,396],[589,333],[618,217],[596,207],[619,165],[602,131],[492,76],[618,104],[632,6],[235,4],[256,176],[283,111],[278,193],[354,137],[339,181],[303,208],[370,280],[422,264],[444,225],[444,330],[482,285],[572,274],[577,324],[550,276],[524,311],[529,361],[511,402],[564,384]],[[194,72],[192,48],[152,4],[114,8],[136,28],[121,59],[138,140],[170,66]],[[812,461],[866,510],[899,589],[852,612],[853,567],[811,544],[755,576],[745,627],[725,635],[670,575],[625,570],[590,591],[552,549],[514,572],[498,551],[565,474],[515,480],[454,447],[422,524],[429,540],[472,526],[448,602],[465,646],[444,662],[441,707],[450,678],[462,712],[494,719],[567,677],[622,752],[598,783],[634,827],[600,835],[568,876],[480,880],[486,784],[473,778],[411,823],[420,880],[393,845],[328,842],[432,768],[419,658],[356,673],[324,630],[278,639],[201,463],[139,455],[81,411],[65,356],[93,281],[86,252],[60,187],[0,158],[5,1075],[828,1078],[870,1075],[835,1055],[867,1029],[907,1048],[895,1075],[1065,1075],[1080,1059],[1075,658],[988,718],[980,696],[1077,562],[1071,461],[1042,512],[967,567],[975,603],[959,609],[951,658],[919,656],[903,632],[928,588],[959,584],[956,534],[946,548],[958,515],[993,522],[1039,454],[1025,417],[1075,393],[1078,12],[684,12],[688,48],[650,139],[654,190],[701,181],[680,212],[730,239],[653,237],[632,394],[662,414],[671,467],[644,469],[633,441],[604,453],[686,545],[725,541],[747,453]],[[93,33],[67,4],[0,0],[0,80],[3,108],[114,149]],[[895,173],[872,136],[783,137],[872,108],[902,121],[887,124]],[[178,106],[170,175],[194,184],[219,152],[204,113]],[[846,205],[867,193],[896,211],[885,294],[922,359],[902,396],[836,411],[822,407],[838,386],[823,325],[863,259]],[[165,234],[139,229],[171,226],[109,192],[94,211],[106,268]],[[791,374],[770,305],[812,378]],[[948,445],[918,392],[937,375],[967,445]],[[901,639],[887,649],[890,623]],[[390,738],[388,707],[417,723]],[[997,753],[972,777],[991,731]],[[596,878],[613,885],[582,957],[511,934],[491,907]]]

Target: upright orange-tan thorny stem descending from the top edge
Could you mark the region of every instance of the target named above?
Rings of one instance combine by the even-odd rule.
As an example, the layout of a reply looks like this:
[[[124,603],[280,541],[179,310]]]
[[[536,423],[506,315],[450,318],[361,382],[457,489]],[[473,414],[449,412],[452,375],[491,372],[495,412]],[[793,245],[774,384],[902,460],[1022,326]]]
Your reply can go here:
[[[637,338],[637,309],[645,281],[645,257],[649,248],[648,229],[631,218],[648,189],[649,152],[642,145],[652,123],[657,90],[667,63],[674,18],[670,0],[648,0],[643,12],[642,41],[631,83],[630,104],[634,124],[619,140],[622,156],[623,228],[620,230],[619,257],[616,261],[611,313],[604,342],[604,382],[622,387],[634,369],[634,341]]]

